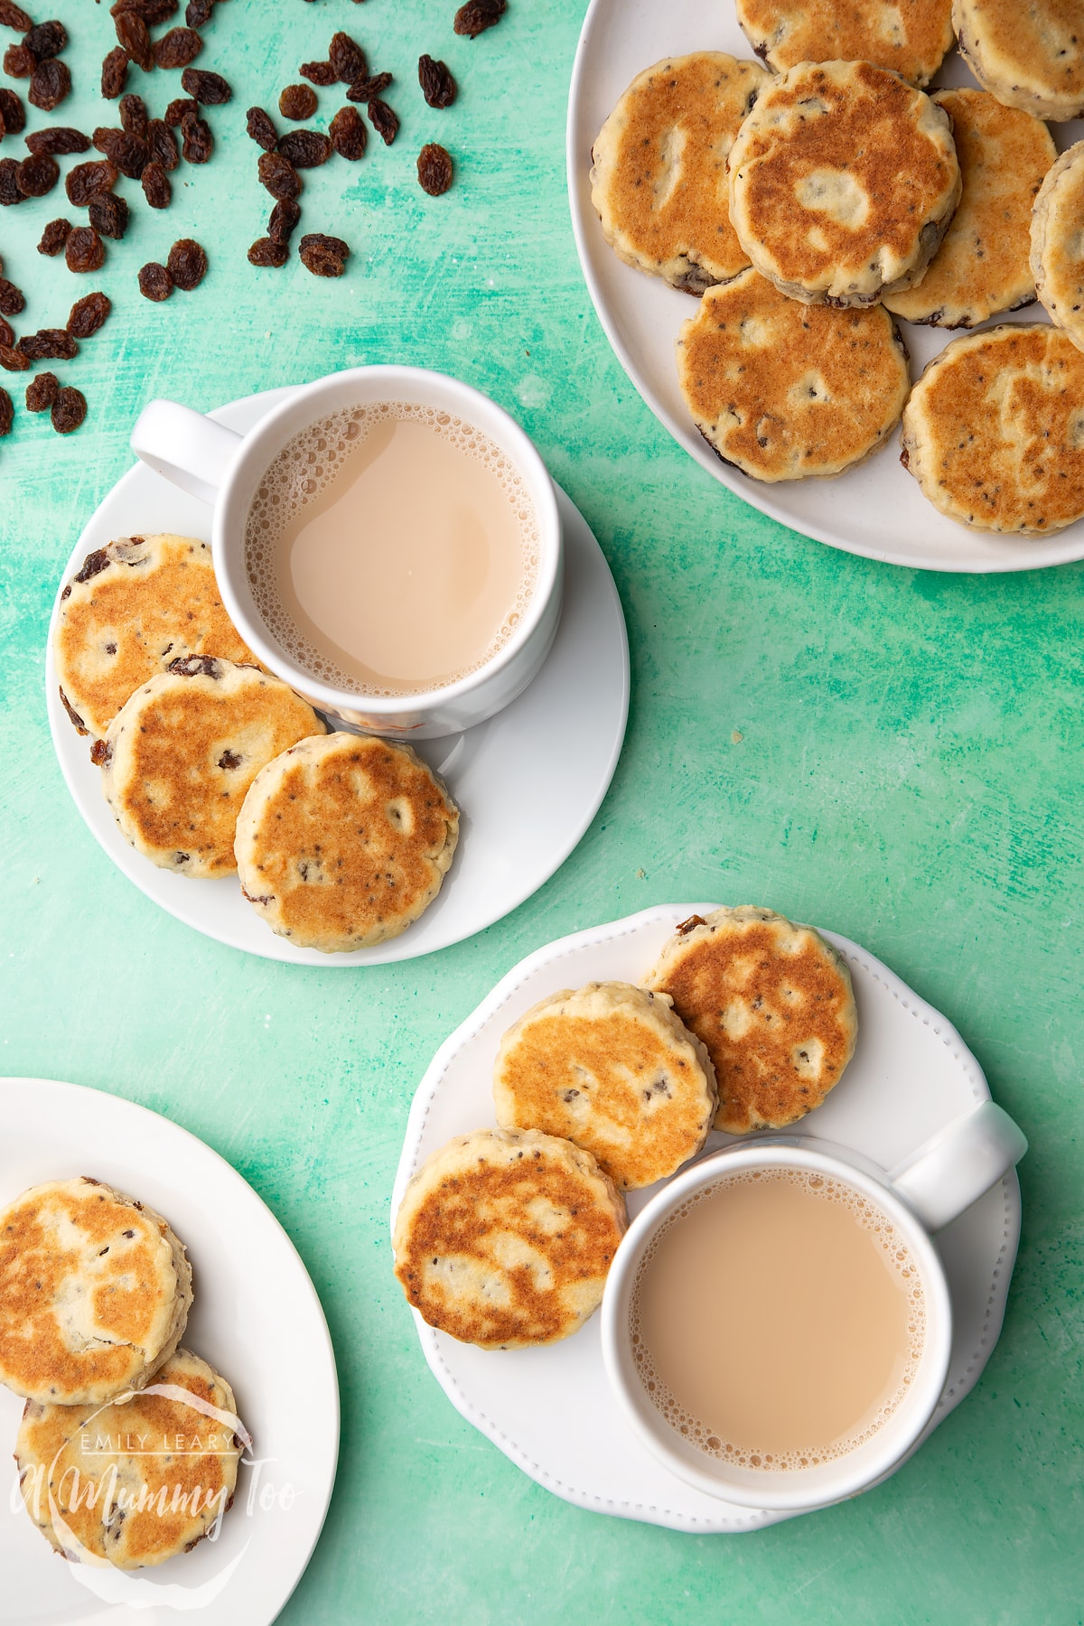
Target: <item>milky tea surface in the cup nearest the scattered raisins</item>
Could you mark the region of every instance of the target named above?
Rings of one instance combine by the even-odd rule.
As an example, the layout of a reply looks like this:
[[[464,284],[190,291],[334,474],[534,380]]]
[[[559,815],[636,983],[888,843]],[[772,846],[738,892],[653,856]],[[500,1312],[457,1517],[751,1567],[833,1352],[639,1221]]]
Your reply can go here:
[[[406,402],[351,406],[268,468],[245,567],[297,665],[354,694],[418,694],[509,641],[535,590],[538,515],[475,424]]]

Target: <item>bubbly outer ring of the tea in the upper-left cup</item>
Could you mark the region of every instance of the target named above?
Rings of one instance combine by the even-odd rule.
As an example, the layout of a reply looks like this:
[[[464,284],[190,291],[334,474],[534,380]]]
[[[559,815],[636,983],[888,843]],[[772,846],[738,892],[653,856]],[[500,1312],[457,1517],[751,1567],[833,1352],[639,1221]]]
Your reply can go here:
[[[512,608],[479,659],[434,681],[434,688],[449,688],[460,678],[470,676],[471,672],[478,672],[509,642],[535,595],[541,538],[535,504],[512,460],[476,424],[457,418],[453,413],[414,402],[375,402],[369,406],[348,406],[330,413],[286,442],[257,486],[245,520],[245,572],[257,613],[289,659],[322,683],[349,694],[390,698],[421,691],[418,686],[388,685],[377,688],[362,683],[356,673],[346,672],[328,659],[327,652],[317,649],[283,605],[278,592],[278,548],[283,530],[322,491],[327,491],[372,428],[387,420],[421,423],[463,452],[465,457],[481,463],[507,498],[520,530],[523,572]]]

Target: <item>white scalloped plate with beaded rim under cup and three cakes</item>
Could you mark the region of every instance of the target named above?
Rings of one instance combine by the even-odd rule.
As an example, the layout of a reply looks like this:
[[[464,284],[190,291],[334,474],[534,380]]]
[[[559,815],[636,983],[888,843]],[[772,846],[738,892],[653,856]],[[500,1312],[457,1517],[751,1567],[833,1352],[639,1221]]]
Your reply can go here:
[[[400,1158],[392,1220],[406,1182],[453,1135],[494,1124],[492,1063],[501,1034],[546,993],[590,980],[637,982],[679,920],[715,904],[666,904],[564,937],[530,954],[440,1046],[418,1086]],[[858,1047],[826,1104],[793,1133],[852,1146],[891,1169],[990,1091],[956,1029],[873,954],[826,932],[847,956],[858,1002]],[[790,1133],[790,1132],[788,1132]],[[709,1150],[730,1145],[712,1135]],[[629,1193],[635,1215],[661,1189]],[[978,1380],[1004,1315],[1021,1234],[1021,1189],[1009,1174],[936,1237],[952,1294],[949,1377],[933,1429]],[[434,1332],[414,1312],[437,1382],[468,1423],[517,1467],[577,1507],[671,1530],[739,1532],[788,1512],[733,1507],[674,1478],[624,1423],[606,1384],[598,1315],[564,1343],[486,1351]]]

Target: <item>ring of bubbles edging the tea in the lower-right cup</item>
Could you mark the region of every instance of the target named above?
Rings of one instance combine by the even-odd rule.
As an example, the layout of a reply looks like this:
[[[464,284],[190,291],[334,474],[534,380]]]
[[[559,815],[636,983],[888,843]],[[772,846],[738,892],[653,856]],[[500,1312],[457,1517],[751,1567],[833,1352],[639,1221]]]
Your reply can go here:
[[[900,1286],[907,1293],[910,1304],[910,1314],[907,1320],[907,1332],[910,1338],[907,1359],[904,1363],[904,1371],[900,1372],[899,1384],[889,1398],[876,1410],[873,1418],[868,1419],[865,1428],[855,1429],[850,1434],[843,1434],[840,1439],[830,1441],[824,1447],[808,1452],[767,1452],[756,1450],[752,1447],[739,1447],[731,1441],[723,1441],[718,1437],[715,1429],[704,1423],[700,1418],[692,1416],[692,1413],[681,1405],[670,1387],[660,1377],[658,1367],[655,1366],[650,1346],[644,1338],[640,1328],[640,1286],[650,1268],[655,1254],[658,1252],[663,1237],[673,1231],[676,1224],[700,1206],[700,1203],[710,1200],[717,1195],[720,1187],[725,1185],[752,1185],[759,1182],[765,1174],[770,1179],[783,1179],[800,1189],[808,1190],[811,1195],[821,1197],[826,1202],[840,1203],[848,1208],[855,1216],[863,1231],[871,1231],[881,1242],[887,1254],[887,1263],[899,1276]],[[739,1468],[762,1468],[764,1472],[778,1473],[780,1470],[800,1470],[800,1468],[816,1468],[824,1462],[835,1462],[839,1457],[848,1455],[858,1446],[871,1439],[879,1428],[892,1416],[899,1408],[900,1402],[905,1398],[915,1374],[918,1371],[918,1361],[921,1359],[923,1341],[926,1335],[926,1296],[921,1288],[921,1280],[918,1275],[918,1267],[907,1249],[899,1231],[876,1203],[869,1202],[861,1192],[843,1185],[840,1180],[834,1180],[824,1174],[813,1174],[804,1169],[749,1169],[733,1176],[725,1180],[717,1180],[713,1185],[696,1192],[692,1197],[686,1198],[666,1220],[663,1226],[658,1228],[652,1237],[644,1259],[635,1273],[635,1281],[632,1285],[632,1294],[629,1301],[629,1343],[632,1348],[632,1359],[635,1363],[637,1372],[644,1389],[652,1398],[655,1408],[663,1415],[670,1426],[687,1439],[691,1446],[697,1450],[705,1452],[709,1457],[717,1457],[720,1462],[733,1463]]]

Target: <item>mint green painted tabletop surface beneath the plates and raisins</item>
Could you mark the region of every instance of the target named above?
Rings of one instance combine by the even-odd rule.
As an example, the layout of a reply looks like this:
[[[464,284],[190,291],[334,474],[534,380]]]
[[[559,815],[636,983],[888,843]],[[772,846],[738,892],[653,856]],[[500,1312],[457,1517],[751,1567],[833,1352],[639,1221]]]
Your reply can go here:
[[[55,119],[89,128],[104,104],[78,63],[111,42],[106,5],[55,10],[76,63]],[[234,102],[211,111],[215,161],[176,172],[167,215],[122,182],[132,229],[78,278],[34,252],[47,220],[78,218],[60,192],[0,211],[7,275],[29,293],[21,332],[62,324],[93,286],[115,304],[57,366],[89,402],[78,434],[54,436],[21,410],[26,379],[0,379],[20,405],[0,442],[3,1072],[166,1112],[242,1171],[301,1249],[336,1345],[343,1454],[281,1619],[1079,1623],[1081,571],[871,564],[699,470],[613,359],[575,260],[564,104],[583,0],[512,0],[473,44],[452,11],[232,0],[200,65],[228,73]],[[306,176],[302,229],[353,244],[343,281],[296,260],[255,272],[244,255],[268,198],[244,109],[271,106],[336,26],[397,73],[401,133]],[[424,107],[419,50],[460,78],[452,111]],[[156,112],[179,91],[176,75],[132,80]],[[319,122],[338,104],[322,91]],[[432,138],[458,166],[440,200],[413,179]],[[148,304],[138,267],[187,233],[208,249],[206,281]],[[210,408],[366,361],[455,372],[535,437],[614,571],[632,712],[588,836],[515,914],[427,959],[301,971],[197,937],[112,868],[54,761],[44,639],[146,400]],[[538,945],[692,896],[769,902],[868,945],[960,1028],[1032,1143],[1006,1328],[977,1392],[889,1485],[730,1538],[580,1512],[518,1473],[429,1376],[387,1241],[408,1104],[447,1033]]]

